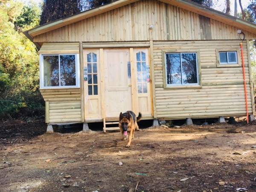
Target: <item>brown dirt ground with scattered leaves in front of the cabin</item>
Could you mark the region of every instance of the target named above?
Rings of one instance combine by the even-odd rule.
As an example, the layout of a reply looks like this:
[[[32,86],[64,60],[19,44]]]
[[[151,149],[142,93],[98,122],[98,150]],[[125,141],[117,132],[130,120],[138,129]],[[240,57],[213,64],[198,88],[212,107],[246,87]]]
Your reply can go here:
[[[119,132],[45,130],[1,123],[1,192],[256,191],[256,123],[141,129],[131,148]]]

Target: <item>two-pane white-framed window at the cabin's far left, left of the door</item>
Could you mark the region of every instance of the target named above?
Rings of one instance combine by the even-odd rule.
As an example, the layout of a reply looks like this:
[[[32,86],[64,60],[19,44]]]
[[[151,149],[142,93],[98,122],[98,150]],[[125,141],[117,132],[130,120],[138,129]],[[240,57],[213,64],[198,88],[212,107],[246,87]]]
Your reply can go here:
[[[79,87],[78,55],[40,55],[41,88]]]

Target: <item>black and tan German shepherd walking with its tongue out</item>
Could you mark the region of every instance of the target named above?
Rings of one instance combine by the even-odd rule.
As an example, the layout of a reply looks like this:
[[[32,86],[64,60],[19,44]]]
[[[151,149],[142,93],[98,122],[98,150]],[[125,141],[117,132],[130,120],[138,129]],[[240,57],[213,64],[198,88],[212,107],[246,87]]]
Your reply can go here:
[[[135,113],[132,111],[126,111],[125,113],[120,113],[119,115],[119,128],[122,135],[122,140],[127,140],[128,143],[126,147],[131,146],[131,140],[134,138],[135,130],[139,130],[137,122],[141,119],[141,113],[136,117]],[[127,132],[129,134],[127,134]]]

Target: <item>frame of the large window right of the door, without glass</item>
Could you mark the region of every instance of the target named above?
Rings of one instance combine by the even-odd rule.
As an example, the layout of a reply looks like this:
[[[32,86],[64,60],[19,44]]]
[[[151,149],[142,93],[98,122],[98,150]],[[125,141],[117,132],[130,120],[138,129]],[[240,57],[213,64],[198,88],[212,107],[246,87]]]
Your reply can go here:
[[[196,54],[196,66],[197,66],[197,81],[198,83],[184,83],[184,84],[167,84],[167,71],[166,71],[166,54],[180,54],[180,62],[181,62],[181,54],[182,53],[195,53]],[[162,50],[162,58],[163,58],[163,88],[164,89],[180,89],[180,88],[201,88],[201,64],[200,64],[200,52],[199,50],[180,50],[177,49],[169,49]],[[182,73],[182,66],[181,66]],[[182,77],[181,77],[182,78]]]

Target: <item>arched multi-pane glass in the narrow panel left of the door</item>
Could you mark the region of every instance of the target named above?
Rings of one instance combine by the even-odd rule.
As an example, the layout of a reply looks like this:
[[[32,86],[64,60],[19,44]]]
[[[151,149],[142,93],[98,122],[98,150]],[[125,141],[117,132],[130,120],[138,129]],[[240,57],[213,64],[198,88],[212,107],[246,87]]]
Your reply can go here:
[[[88,95],[98,95],[97,55],[93,52],[87,54],[88,67]]]

